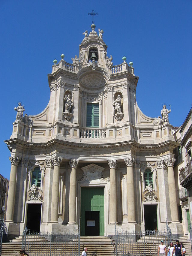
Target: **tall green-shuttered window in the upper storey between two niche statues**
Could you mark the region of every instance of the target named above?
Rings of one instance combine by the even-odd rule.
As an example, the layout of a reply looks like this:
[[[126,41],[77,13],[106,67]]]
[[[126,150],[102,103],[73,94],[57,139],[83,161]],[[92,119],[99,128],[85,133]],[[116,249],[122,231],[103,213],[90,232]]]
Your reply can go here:
[[[87,104],[87,127],[99,127],[99,104]]]

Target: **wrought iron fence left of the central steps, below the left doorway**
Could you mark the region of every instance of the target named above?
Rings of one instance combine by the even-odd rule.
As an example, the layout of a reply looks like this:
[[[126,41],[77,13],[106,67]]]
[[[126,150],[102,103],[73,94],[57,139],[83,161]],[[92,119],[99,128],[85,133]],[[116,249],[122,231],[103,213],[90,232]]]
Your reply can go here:
[[[73,232],[30,232],[25,227],[22,236],[22,249],[30,256],[63,256],[64,254],[79,256],[80,233],[78,229]]]

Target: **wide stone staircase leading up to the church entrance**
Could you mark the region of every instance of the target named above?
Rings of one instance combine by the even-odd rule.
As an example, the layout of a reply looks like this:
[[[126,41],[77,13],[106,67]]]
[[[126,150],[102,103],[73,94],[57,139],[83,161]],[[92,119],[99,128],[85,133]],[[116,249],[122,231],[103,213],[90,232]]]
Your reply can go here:
[[[149,237],[151,236],[151,237]],[[153,255],[157,256],[157,253],[152,254],[153,251],[157,252],[158,251],[158,245],[160,244],[161,239],[163,237],[161,236],[154,236],[154,235],[149,235],[147,236],[147,239],[150,241],[153,241],[151,243],[146,242],[146,237],[142,236],[136,243],[132,243],[131,245],[124,245],[124,248],[118,248],[121,251],[129,251],[130,255],[142,255],[144,252],[144,246],[143,244],[145,243],[145,248],[146,248],[146,256],[147,255]],[[114,256],[113,253],[113,245],[111,245],[111,239],[106,237],[106,236],[81,236],[81,252],[84,247],[88,248],[87,254],[88,256]],[[34,251],[33,254],[30,253],[29,256],[38,256],[38,255],[44,255],[44,256],[50,256],[50,251],[46,249],[43,249],[41,246],[41,241],[45,242],[47,241],[46,238],[41,237],[41,239],[38,241],[37,244],[37,251]],[[186,256],[191,256],[191,245],[190,245],[190,240],[188,239],[188,236],[182,236],[179,239],[180,242],[183,242],[184,247],[186,248]],[[47,243],[49,243],[47,241]],[[115,243],[115,242],[114,242]],[[175,244],[175,241],[173,240],[173,243]],[[2,251],[1,251],[1,256],[14,256],[14,255],[20,255],[19,251],[21,249],[22,245],[22,236],[16,237],[10,242],[6,242],[2,244]],[[167,247],[168,248],[168,247]],[[59,251],[58,247],[54,248],[54,255],[59,255],[58,252],[62,252],[61,255],[72,255],[72,251],[70,251],[70,246],[68,245],[62,245],[60,246]],[[51,255],[52,256],[52,255]]]

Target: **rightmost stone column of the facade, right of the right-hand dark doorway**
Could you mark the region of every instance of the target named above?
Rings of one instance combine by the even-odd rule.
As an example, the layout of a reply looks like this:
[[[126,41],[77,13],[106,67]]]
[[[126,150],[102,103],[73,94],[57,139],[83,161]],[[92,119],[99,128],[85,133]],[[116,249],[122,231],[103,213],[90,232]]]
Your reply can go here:
[[[175,163],[175,158],[167,159],[167,172],[168,172],[168,185],[169,185],[169,199],[171,206],[171,221],[179,221],[178,207],[177,207],[177,197],[176,197],[176,187],[175,187],[175,176],[173,171],[173,165]]]

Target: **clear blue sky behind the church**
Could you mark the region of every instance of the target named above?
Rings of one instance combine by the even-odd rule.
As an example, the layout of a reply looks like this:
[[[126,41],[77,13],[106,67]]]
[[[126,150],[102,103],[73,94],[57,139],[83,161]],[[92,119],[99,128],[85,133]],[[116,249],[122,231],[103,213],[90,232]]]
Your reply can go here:
[[[1,170],[9,179],[10,138],[14,107],[21,101],[28,115],[44,110],[49,102],[47,74],[53,59],[65,61],[79,53],[85,30],[90,32],[92,10],[96,30],[104,30],[107,55],[113,65],[132,61],[137,103],[150,117],[171,104],[173,126],[182,125],[192,104],[192,1],[2,1],[0,4],[1,54]]]

